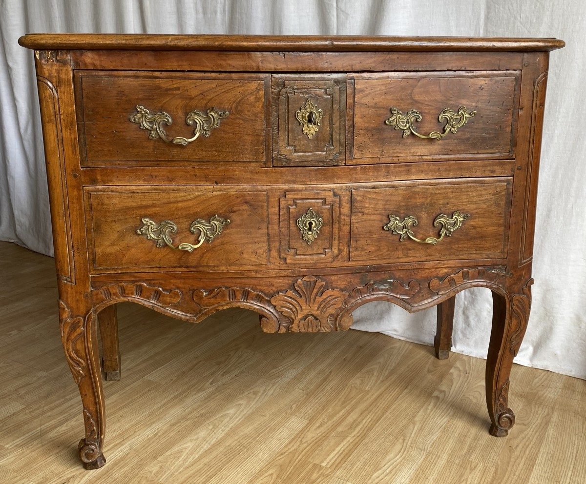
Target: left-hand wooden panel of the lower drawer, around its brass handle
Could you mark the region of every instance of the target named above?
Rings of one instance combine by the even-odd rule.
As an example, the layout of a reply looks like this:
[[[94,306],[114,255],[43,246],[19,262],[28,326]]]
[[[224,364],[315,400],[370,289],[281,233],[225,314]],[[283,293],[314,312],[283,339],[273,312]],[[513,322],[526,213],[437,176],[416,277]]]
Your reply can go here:
[[[222,192],[213,188],[97,187],[86,190],[85,197],[94,270],[195,266],[237,269],[267,263],[265,191],[246,191],[245,187]],[[216,224],[210,224],[216,215],[229,222],[216,220]],[[197,219],[205,223],[194,224]],[[161,231],[161,226],[170,223],[176,226],[176,232],[172,228]],[[190,231],[192,224],[195,227]],[[216,234],[218,224],[220,234]],[[206,225],[211,225],[206,232],[211,237],[193,248],[202,239],[203,232],[197,227]],[[172,249],[165,239],[175,247],[187,243],[192,252],[189,246]]]

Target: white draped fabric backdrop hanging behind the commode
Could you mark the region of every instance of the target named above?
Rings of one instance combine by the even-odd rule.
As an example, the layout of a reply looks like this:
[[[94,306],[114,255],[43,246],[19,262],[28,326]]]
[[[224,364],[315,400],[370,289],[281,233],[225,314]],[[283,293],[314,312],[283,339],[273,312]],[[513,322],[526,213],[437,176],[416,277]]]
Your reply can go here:
[[[551,54],[534,250],[533,308],[516,362],[586,379],[586,13],[583,0],[0,0],[0,239],[52,253],[29,32],[558,37]],[[454,350],[485,358],[489,290],[458,295]],[[432,345],[435,310],[390,303],[355,327]]]

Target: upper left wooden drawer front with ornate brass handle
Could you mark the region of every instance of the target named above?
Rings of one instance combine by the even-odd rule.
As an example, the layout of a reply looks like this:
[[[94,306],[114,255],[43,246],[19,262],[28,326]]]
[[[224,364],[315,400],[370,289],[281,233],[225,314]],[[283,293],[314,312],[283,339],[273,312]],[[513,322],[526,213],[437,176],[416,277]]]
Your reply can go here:
[[[75,80],[82,166],[267,164],[268,75],[77,71]]]

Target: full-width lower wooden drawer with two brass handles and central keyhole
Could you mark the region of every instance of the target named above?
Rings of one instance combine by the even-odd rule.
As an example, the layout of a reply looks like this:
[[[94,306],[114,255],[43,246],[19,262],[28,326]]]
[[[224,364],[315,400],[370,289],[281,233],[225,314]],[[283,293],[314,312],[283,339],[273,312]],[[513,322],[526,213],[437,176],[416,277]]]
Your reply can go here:
[[[512,180],[87,187],[90,263],[97,273],[503,259]],[[299,226],[310,209],[311,240]]]

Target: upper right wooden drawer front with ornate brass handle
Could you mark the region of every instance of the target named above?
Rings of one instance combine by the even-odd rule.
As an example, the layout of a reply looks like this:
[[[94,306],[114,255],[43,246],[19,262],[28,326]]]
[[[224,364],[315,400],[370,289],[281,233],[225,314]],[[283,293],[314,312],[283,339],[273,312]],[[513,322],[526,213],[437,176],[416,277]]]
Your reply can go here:
[[[353,159],[346,163],[514,157],[519,76],[354,74]]]

